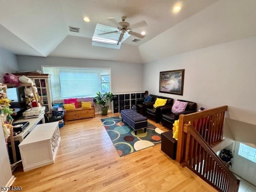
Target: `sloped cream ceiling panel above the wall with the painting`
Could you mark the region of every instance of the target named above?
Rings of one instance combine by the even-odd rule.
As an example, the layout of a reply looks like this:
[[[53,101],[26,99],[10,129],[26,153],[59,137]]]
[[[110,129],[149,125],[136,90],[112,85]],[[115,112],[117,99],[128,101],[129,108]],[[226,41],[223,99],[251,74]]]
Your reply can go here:
[[[255,9],[255,0],[218,0],[140,45],[142,60],[156,61],[254,35]]]

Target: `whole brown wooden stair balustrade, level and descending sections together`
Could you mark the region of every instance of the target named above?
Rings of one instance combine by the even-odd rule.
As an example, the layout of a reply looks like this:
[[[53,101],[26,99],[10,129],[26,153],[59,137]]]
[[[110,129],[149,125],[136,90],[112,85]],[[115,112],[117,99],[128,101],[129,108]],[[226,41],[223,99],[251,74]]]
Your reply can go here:
[[[240,179],[227,168],[212,147],[222,142],[225,111],[221,106],[180,115],[176,161],[221,192],[238,192]]]

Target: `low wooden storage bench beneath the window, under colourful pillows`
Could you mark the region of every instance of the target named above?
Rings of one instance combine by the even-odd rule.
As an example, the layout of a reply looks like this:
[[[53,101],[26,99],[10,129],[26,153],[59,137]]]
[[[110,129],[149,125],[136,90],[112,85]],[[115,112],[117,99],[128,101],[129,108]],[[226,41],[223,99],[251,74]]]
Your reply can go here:
[[[91,117],[95,117],[94,106],[92,106],[92,108],[82,108],[82,103],[78,101],[78,108],[66,111],[64,115],[64,121],[85,119]]]

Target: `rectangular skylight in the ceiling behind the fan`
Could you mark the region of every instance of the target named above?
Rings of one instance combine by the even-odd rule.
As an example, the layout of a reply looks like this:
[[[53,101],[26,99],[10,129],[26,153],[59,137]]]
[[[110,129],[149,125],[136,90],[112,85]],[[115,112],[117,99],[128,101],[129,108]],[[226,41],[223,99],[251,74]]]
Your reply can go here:
[[[113,32],[113,33],[108,33],[108,32]],[[108,33],[108,34],[102,34],[102,33]],[[130,36],[130,34],[126,32],[123,36],[122,41],[118,43],[120,34],[121,34],[121,31],[119,31],[118,28],[116,27],[106,26],[106,25],[97,23],[94,34],[92,36],[92,45],[106,47],[106,48],[120,49],[122,42]]]

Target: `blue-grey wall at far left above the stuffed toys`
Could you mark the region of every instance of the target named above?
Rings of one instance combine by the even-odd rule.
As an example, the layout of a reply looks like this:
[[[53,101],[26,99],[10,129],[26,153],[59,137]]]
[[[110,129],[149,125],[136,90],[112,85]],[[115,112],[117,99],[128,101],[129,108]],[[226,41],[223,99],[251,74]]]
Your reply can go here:
[[[16,56],[0,47],[0,82],[4,82],[5,73],[16,72],[16,70],[18,70]]]

